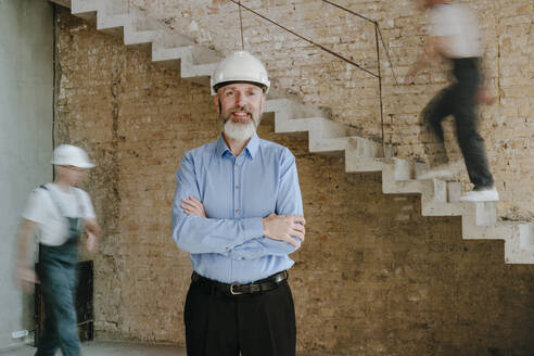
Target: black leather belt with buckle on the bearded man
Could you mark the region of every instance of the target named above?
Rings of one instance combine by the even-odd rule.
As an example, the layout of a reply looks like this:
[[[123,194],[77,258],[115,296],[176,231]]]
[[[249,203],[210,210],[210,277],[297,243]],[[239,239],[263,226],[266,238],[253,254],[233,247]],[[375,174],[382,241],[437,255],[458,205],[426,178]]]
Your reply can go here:
[[[283,270],[281,272],[278,272],[276,275],[272,275],[270,277],[267,277],[265,279],[260,279],[258,281],[247,283],[247,284],[240,284],[238,282],[233,282],[230,284],[227,283],[221,283],[214,281],[212,279],[202,277],[201,275],[196,274],[193,271],[193,275],[191,276],[191,281],[193,283],[203,283],[206,285],[209,285],[211,288],[223,292],[227,293],[229,295],[240,295],[240,294],[253,294],[253,293],[259,293],[259,292],[266,292],[274,290],[275,288],[278,288],[278,285],[288,279],[288,271]]]

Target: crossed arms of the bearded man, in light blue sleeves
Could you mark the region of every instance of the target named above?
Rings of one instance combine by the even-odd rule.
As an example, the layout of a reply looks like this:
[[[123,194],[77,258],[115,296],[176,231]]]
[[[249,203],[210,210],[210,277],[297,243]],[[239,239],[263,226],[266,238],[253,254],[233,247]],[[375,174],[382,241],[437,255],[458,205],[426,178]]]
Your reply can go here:
[[[289,152],[289,151],[288,151]],[[186,155],[177,173],[173,203],[173,238],[191,254],[216,253],[232,259],[254,259],[266,255],[288,255],[300,247],[305,236],[302,199],[294,157],[281,169],[276,212],[267,217],[218,219],[206,216],[194,169]]]

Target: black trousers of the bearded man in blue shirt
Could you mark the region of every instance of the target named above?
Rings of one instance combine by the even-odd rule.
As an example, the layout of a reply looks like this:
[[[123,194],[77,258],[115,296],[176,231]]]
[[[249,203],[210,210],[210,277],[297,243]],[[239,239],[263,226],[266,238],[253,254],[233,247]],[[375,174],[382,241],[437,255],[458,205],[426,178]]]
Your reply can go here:
[[[183,319],[188,356],[295,355],[295,310],[287,280],[274,290],[241,295],[191,282]]]

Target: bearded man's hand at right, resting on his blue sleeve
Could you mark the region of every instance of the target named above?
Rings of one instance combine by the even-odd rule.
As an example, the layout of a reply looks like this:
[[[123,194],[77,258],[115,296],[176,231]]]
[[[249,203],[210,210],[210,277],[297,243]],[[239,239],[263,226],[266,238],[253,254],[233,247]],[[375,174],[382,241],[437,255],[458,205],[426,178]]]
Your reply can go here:
[[[304,225],[304,216],[301,215],[276,215],[270,214],[264,217],[264,236],[272,240],[285,241],[293,246],[298,246],[298,243],[293,239],[297,238],[304,241],[306,230]]]

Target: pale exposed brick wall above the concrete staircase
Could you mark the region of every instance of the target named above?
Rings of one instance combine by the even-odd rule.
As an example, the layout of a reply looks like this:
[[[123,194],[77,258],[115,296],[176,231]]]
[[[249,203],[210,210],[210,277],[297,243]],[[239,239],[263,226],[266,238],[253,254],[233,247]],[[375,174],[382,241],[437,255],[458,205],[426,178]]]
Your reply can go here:
[[[425,16],[418,8],[420,1],[334,2],[379,22],[394,69],[404,78],[423,43]],[[527,0],[462,2],[479,16],[486,42],[485,76],[492,91],[498,94],[498,102],[481,107],[480,116],[481,134],[501,196],[500,215],[532,219],[534,189],[529,177],[534,175],[534,157],[529,142],[534,135],[534,99],[530,94],[534,91],[534,3]],[[241,49],[239,11],[230,1],[213,4],[212,0],[129,0],[129,3],[224,53]],[[242,3],[377,73],[371,24],[320,0]],[[359,127],[366,137],[381,137],[377,79],[245,10],[242,20],[245,49],[264,61],[278,87],[296,93],[307,103],[330,107],[334,119]],[[424,158],[432,147],[429,143],[435,140],[420,124],[419,114],[428,100],[446,85],[446,66],[436,63],[419,75],[416,85],[396,87],[383,50],[381,59],[385,141],[395,147],[398,156]],[[448,150],[453,160],[461,160],[452,127],[448,123]],[[466,171],[458,178],[468,182]]]

